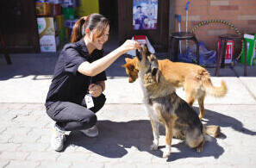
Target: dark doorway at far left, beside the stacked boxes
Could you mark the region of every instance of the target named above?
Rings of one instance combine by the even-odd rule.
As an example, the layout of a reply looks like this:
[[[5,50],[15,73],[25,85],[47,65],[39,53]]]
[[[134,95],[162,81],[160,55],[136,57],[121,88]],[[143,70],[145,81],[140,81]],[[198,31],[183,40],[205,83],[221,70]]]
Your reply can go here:
[[[34,0],[0,1],[0,28],[10,53],[40,51]]]

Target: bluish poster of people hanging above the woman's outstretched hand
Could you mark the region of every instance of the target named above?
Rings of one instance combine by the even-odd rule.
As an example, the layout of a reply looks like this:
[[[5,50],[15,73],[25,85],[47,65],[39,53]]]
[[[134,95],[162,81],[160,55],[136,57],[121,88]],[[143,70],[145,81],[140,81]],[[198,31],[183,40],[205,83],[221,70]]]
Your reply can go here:
[[[156,29],[158,21],[158,0],[134,0],[133,28]]]

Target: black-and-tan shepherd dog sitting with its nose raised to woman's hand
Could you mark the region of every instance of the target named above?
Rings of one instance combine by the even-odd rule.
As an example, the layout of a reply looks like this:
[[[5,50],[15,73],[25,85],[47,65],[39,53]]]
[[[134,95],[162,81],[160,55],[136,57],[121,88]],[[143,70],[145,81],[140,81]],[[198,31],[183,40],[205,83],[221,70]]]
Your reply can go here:
[[[140,65],[139,78],[144,94],[144,103],[153,128],[153,145],[159,146],[159,122],[165,126],[165,149],[163,158],[171,154],[172,136],[185,140],[197,152],[203,151],[206,130],[199,120],[197,112],[181,99],[172,84],[159,70],[158,59],[147,52],[147,47],[137,51]]]

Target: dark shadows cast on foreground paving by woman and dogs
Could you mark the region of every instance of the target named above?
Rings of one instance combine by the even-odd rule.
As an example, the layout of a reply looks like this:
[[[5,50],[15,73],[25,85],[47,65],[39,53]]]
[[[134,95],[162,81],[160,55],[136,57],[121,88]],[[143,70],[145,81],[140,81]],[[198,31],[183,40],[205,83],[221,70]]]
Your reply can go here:
[[[198,108],[197,108],[198,110]],[[207,125],[218,125],[221,128],[233,128],[234,131],[240,134],[255,135],[256,133],[243,127],[243,124],[228,115],[222,115],[215,111],[206,110],[204,117]],[[122,158],[128,153],[127,148],[134,146],[141,152],[148,152],[161,158],[163,152],[161,150],[151,151],[149,146],[152,144],[153,133],[150,121],[98,121],[97,126],[100,134],[97,138],[88,138],[84,134],[76,131],[68,135],[66,140],[66,147],[70,145],[82,146],[91,152],[95,152],[107,158]],[[165,135],[164,128],[160,127],[160,134]],[[227,138],[222,133],[221,139]],[[163,148],[165,146],[159,146]],[[220,146],[216,140],[206,142],[204,151],[197,153],[195,149],[190,149],[186,146],[184,141],[179,141],[173,144],[172,147],[178,149],[179,152],[172,152],[172,155],[167,161],[174,161],[176,159],[184,158],[203,158],[214,157],[218,159],[223,152],[224,148]]]

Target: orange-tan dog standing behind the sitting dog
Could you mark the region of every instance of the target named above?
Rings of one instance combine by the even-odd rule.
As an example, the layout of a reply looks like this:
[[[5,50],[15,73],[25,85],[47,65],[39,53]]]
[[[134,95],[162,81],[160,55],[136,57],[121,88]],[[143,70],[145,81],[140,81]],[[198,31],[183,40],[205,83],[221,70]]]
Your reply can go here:
[[[128,74],[128,80],[133,83],[138,78],[140,63],[137,57],[125,59],[126,64],[122,65]],[[206,94],[215,97],[225,96],[228,89],[224,81],[220,87],[215,87],[210,80],[210,75],[200,65],[189,63],[172,62],[169,59],[158,60],[159,70],[169,84],[173,87],[183,87],[186,102],[191,106],[197,100],[200,109],[199,118],[202,120],[205,113],[203,101]]]

